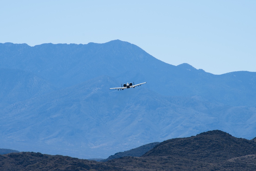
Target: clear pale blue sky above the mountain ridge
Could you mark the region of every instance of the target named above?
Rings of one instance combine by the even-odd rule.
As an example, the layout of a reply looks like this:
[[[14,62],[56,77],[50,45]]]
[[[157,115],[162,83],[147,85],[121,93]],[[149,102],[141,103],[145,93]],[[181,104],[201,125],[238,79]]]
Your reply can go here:
[[[163,62],[256,72],[256,1],[1,1],[0,43],[120,39]]]

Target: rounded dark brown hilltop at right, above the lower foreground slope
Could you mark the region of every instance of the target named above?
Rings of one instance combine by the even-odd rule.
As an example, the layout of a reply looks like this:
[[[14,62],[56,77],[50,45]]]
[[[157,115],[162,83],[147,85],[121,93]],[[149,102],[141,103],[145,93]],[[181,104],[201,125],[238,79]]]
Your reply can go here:
[[[256,154],[256,143],[243,138],[236,138],[220,130],[213,130],[188,138],[166,140],[146,156],[186,156],[190,158],[226,160],[234,157]]]

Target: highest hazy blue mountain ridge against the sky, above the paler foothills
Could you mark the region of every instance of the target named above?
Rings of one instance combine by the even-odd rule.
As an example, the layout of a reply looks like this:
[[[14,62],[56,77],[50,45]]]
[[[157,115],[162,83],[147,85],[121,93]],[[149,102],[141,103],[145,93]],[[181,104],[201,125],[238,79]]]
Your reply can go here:
[[[118,81],[145,81],[171,96],[195,96],[227,105],[256,103],[256,73],[213,75],[188,64],[173,66],[141,48],[120,40],[103,44],[0,44],[0,68],[21,69],[40,75],[60,87],[108,75]],[[113,84],[112,86],[119,86]]]

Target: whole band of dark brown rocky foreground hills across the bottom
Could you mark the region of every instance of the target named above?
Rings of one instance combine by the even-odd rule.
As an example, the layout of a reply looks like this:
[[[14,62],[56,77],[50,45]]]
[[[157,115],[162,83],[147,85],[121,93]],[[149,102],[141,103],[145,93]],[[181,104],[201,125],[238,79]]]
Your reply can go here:
[[[33,152],[0,155],[0,170],[256,170],[256,142],[213,130],[166,140],[141,157],[96,162]]]

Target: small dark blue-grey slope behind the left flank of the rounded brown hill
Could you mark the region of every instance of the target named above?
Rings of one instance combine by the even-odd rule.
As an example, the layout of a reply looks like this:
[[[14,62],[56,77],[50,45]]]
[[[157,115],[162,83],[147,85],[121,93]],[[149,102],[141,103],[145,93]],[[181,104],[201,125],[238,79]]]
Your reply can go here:
[[[108,158],[106,158],[104,160],[101,160],[101,162],[106,162],[106,161],[114,159],[114,158],[120,158],[120,157],[125,157],[125,156],[140,157],[143,154],[145,154],[146,152],[148,152],[149,150],[151,150],[153,147],[155,147],[157,144],[159,144],[159,142],[145,144],[140,147],[127,150],[125,152],[118,152],[114,155],[109,156]]]

